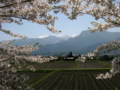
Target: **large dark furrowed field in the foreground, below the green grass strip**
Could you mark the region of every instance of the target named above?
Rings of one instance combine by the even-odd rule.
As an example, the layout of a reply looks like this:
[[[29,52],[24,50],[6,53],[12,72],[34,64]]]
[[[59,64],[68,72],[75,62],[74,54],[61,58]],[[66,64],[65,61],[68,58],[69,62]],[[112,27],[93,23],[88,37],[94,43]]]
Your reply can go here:
[[[111,79],[96,80],[107,71],[57,71],[36,83],[35,90],[115,90],[120,89],[120,74]],[[39,77],[39,76],[38,76]]]

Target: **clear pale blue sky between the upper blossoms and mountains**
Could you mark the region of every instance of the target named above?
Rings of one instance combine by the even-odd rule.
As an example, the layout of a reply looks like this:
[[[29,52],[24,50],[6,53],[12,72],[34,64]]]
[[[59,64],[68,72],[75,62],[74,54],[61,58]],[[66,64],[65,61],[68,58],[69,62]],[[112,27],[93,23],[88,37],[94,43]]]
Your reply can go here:
[[[88,27],[93,27],[90,22],[96,21],[94,17],[90,15],[78,16],[76,20],[69,20],[67,16],[63,14],[57,14],[57,16],[58,20],[55,23],[55,28],[62,31],[60,34],[50,32],[44,25],[39,25],[37,23],[32,23],[26,20],[23,20],[23,25],[17,25],[15,23],[4,23],[2,24],[2,28],[10,30],[16,34],[27,36],[27,38],[63,35],[74,37],[76,35],[79,35],[82,31],[88,30]],[[102,19],[98,20],[97,22],[104,23]],[[120,28],[111,28],[107,31],[120,32]],[[10,35],[7,35],[3,32],[0,32],[0,37],[0,41],[18,39],[16,37],[11,37]]]

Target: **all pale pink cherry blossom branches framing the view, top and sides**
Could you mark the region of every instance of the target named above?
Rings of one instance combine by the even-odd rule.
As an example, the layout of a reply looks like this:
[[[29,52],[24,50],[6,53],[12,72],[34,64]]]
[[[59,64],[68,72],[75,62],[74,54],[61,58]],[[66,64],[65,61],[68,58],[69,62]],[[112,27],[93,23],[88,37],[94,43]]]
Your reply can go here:
[[[60,31],[54,28],[55,17],[51,14],[63,13],[68,16],[69,19],[77,19],[78,16],[88,14],[93,16],[96,20],[103,19],[105,23],[91,22],[94,26],[90,28],[90,32],[105,31],[109,28],[120,27],[120,9],[116,0],[0,0],[0,31],[5,34],[9,34],[13,37],[19,37],[25,39],[26,36],[15,34],[9,30],[2,28],[3,23],[16,23],[22,25],[22,20],[27,20],[33,23],[44,25],[48,30],[53,33],[59,33]],[[43,60],[35,56],[29,56],[29,53],[38,50],[38,46],[26,45],[26,46],[12,46],[12,41],[3,42],[0,44],[0,89],[1,90],[32,90],[25,81],[28,77],[17,77],[14,72],[16,68],[11,67],[9,61],[15,62],[18,65],[18,69],[21,70],[19,60],[29,60],[35,62],[46,62],[49,59]],[[119,41],[113,41],[108,44],[99,46],[93,53],[89,53],[88,56],[94,56],[101,50],[112,51],[119,49]],[[112,48],[110,48],[112,47]],[[113,60],[119,61],[118,58]],[[35,70],[32,66],[28,66],[31,70]],[[118,67],[113,64],[112,74],[117,73]],[[107,77],[111,77],[108,73]],[[102,77],[104,75],[100,75]],[[106,78],[106,77],[104,77]],[[11,82],[11,83],[10,83]],[[16,84],[14,84],[16,83]]]

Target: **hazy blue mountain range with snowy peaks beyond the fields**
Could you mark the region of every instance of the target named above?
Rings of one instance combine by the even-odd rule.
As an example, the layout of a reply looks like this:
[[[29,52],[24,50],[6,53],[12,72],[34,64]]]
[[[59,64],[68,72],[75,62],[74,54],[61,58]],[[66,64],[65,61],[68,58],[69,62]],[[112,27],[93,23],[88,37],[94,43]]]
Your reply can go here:
[[[69,52],[73,54],[86,54],[96,49],[97,46],[115,39],[120,40],[120,32],[97,31],[90,33],[89,31],[83,31],[74,38],[65,39],[56,36],[48,36],[45,38],[28,38],[25,40],[17,39],[12,45],[23,46],[37,42],[43,45],[39,50],[31,54],[60,55],[64,53],[64,55],[67,55]]]

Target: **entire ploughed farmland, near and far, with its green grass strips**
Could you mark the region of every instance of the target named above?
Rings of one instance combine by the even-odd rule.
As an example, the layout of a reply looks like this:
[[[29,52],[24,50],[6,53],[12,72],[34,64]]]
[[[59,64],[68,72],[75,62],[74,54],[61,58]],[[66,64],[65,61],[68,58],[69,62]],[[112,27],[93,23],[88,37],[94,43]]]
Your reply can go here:
[[[23,70],[17,74],[28,75],[30,79],[27,83],[35,90],[119,90],[119,73],[111,79],[96,79],[98,74],[109,72],[110,63],[111,61],[27,63],[37,70]]]

